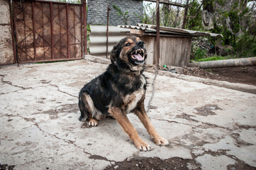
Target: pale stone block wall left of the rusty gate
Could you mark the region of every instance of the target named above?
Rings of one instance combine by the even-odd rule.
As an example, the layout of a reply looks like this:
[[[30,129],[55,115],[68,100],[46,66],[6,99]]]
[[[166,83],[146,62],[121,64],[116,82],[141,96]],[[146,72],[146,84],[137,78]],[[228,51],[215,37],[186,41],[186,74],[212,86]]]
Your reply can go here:
[[[0,0],[0,64],[12,64],[13,62],[9,1]]]

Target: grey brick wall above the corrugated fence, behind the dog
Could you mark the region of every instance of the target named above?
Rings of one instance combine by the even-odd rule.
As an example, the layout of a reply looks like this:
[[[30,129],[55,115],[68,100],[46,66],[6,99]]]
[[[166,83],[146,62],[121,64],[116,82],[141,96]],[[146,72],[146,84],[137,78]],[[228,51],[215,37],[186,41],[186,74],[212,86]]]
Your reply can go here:
[[[143,18],[143,1],[141,0],[88,0],[87,23],[91,25],[106,25],[107,7],[110,6],[109,26],[125,25],[123,16],[118,16],[118,12],[113,8],[113,4],[125,13],[128,11],[128,25],[135,25]],[[135,16],[138,15],[138,16]]]

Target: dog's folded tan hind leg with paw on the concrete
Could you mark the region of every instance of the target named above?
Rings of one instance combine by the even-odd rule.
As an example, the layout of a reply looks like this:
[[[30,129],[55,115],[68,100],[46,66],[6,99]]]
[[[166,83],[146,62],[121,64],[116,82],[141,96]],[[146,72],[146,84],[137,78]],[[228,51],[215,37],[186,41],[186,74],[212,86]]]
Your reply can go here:
[[[95,106],[94,102],[91,100],[91,96],[86,92],[79,94],[79,103],[78,103],[81,115],[79,120],[85,122],[89,120],[88,125],[96,126],[98,125],[98,121],[94,119]]]

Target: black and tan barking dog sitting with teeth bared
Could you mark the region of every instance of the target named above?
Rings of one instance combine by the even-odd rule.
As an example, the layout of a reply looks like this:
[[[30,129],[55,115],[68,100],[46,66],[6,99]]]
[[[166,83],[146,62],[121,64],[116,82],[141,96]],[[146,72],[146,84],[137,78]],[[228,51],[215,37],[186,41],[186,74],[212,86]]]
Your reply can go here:
[[[111,51],[111,64],[106,72],[86,84],[79,93],[79,120],[89,120],[89,125],[98,125],[98,120],[110,115],[116,119],[129,135],[135,146],[150,150],[126,114],[135,113],[157,145],[168,145],[168,141],[157,134],[144,108],[146,79],[143,66],[147,52],[140,38],[123,38]]]

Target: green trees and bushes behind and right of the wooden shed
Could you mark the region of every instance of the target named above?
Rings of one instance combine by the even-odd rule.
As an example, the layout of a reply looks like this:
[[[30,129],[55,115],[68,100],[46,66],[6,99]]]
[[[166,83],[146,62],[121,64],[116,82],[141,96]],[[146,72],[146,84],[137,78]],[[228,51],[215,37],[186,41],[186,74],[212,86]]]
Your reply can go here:
[[[212,15],[211,30],[206,30],[203,26],[201,14],[203,10],[207,10]],[[155,6],[146,4],[143,13],[143,23],[156,24]],[[160,5],[160,26],[181,28],[183,18],[184,8]],[[185,28],[223,35],[220,40],[208,38],[207,43],[211,46],[208,49],[200,44],[192,44],[191,60],[256,57],[256,1],[189,0]]]

